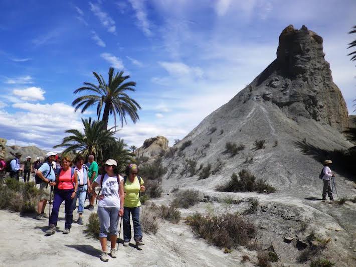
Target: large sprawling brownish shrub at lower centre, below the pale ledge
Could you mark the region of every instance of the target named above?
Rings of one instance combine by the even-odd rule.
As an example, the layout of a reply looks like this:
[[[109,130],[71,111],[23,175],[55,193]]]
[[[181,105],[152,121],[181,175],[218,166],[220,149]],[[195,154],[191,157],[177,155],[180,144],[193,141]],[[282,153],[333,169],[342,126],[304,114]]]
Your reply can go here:
[[[247,245],[257,231],[252,223],[232,213],[204,216],[196,212],[188,216],[186,221],[194,234],[216,246],[226,248]]]

